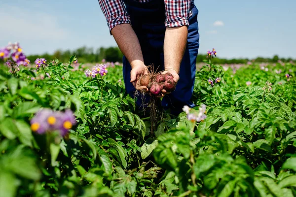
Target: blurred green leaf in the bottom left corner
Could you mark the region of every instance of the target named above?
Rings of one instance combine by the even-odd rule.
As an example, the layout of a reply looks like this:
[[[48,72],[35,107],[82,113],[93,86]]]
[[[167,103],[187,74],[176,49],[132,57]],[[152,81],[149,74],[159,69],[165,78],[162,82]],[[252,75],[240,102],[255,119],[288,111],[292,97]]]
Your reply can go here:
[[[20,184],[21,182],[13,174],[0,171],[1,197],[16,197],[16,191]]]

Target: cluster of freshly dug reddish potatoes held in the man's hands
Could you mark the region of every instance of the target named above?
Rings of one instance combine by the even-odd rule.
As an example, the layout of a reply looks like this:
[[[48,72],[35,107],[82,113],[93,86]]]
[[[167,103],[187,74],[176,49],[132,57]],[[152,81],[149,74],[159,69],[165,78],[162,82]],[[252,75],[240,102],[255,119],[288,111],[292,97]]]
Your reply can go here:
[[[162,93],[162,90],[166,92],[175,90],[176,83],[173,79],[174,77],[171,73],[158,73],[154,76],[145,74],[140,78],[140,85],[146,86],[151,95],[157,96]]]

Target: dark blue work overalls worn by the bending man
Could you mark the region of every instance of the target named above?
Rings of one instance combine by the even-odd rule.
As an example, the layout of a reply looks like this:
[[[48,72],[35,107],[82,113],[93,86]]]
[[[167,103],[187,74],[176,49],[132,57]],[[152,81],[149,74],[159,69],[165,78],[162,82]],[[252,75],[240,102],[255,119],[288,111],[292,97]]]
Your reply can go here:
[[[163,0],[150,0],[138,2],[135,0],[124,0],[126,10],[131,18],[132,27],[138,36],[144,63],[146,66],[153,65],[154,71],[164,70],[163,43],[166,27],[165,6]],[[197,14],[198,10],[191,3],[191,16],[188,18],[188,38],[185,54],[180,66],[180,80],[176,90],[162,99],[164,109],[170,109],[171,114],[178,115],[182,112],[184,105],[194,107],[191,96],[194,87],[196,72],[196,57],[199,48],[199,33]],[[131,66],[123,57],[123,78],[128,94],[134,95],[136,89],[130,83]],[[146,98],[147,99],[147,98]],[[138,97],[137,105],[143,103],[142,97]]]

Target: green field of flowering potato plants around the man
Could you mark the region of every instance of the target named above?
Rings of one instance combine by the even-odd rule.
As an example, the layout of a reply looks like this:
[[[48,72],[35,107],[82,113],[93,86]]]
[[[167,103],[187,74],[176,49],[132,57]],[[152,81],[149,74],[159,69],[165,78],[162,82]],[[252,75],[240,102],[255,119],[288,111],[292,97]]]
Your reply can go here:
[[[196,107],[162,113],[152,133],[122,66],[92,77],[74,56],[30,63],[18,45],[0,57],[0,196],[296,196],[293,63],[209,61]]]

